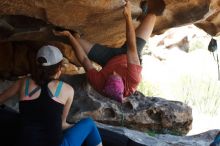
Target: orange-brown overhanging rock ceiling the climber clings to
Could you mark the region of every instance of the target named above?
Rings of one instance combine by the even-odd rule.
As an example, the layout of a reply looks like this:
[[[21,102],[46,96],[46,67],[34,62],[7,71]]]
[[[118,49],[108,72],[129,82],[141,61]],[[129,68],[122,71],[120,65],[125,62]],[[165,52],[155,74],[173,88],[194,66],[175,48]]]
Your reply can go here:
[[[140,1],[131,0],[136,26]],[[154,33],[194,23],[211,35],[219,35],[219,0],[164,1],[167,7],[158,17]],[[117,46],[125,39],[122,5],[123,0],[0,0],[1,37],[39,40],[48,35],[46,28],[53,25],[77,30],[92,42]]]

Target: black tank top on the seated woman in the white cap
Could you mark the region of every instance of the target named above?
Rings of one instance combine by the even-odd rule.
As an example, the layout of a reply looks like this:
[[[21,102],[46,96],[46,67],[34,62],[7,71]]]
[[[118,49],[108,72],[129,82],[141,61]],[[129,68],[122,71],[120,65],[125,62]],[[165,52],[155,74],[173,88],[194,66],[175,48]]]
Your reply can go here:
[[[20,146],[59,146],[62,140],[63,104],[52,99],[48,83],[37,99],[20,101]]]

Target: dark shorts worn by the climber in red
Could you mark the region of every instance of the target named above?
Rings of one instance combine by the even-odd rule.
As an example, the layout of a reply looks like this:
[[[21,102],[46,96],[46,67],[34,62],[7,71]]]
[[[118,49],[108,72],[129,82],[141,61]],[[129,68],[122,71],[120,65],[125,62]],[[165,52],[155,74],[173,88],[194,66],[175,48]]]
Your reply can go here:
[[[141,52],[146,44],[144,39],[136,37],[136,45],[139,59],[141,59]],[[127,53],[127,43],[125,42],[120,48],[111,48],[100,44],[95,44],[91,51],[88,53],[90,60],[98,63],[101,66],[105,64],[114,56],[126,54]]]

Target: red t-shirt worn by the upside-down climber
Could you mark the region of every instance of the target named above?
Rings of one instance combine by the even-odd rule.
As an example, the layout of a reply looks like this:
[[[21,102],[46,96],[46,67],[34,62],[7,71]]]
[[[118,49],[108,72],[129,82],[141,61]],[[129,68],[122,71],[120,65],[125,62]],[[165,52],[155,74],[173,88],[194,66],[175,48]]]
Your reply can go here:
[[[115,71],[123,79],[125,86],[124,97],[127,97],[136,91],[141,81],[141,70],[142,67],[140,65],[128,63],[127,55],[123,54],[113,57],[102,70],[91,69],[86,75],[92,87],[103,94],[105,81]]]

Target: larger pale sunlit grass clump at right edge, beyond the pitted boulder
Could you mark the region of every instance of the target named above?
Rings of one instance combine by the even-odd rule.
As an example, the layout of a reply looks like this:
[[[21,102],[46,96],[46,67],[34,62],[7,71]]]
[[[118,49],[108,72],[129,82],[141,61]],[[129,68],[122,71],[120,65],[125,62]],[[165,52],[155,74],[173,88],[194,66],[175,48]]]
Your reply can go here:
[[[173,89],[175,97],[200,112],[218,114],[220,105],[220,83],[216,80],[199,80],[191,76],[182,76]]]

